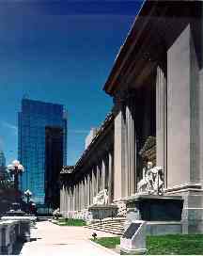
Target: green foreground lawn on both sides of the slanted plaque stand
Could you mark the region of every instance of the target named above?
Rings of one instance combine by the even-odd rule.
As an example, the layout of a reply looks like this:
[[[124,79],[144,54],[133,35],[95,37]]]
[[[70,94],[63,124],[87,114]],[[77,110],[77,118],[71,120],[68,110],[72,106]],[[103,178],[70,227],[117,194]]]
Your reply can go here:
[[[91,239],[94,241],[93,239]],[[116,248],[120,243],[120,237],[102,237],[94,242],[105,248]],[[151,254],[184,254],[202,255],[203,234],[171,234],[147,237],[148,255]]]

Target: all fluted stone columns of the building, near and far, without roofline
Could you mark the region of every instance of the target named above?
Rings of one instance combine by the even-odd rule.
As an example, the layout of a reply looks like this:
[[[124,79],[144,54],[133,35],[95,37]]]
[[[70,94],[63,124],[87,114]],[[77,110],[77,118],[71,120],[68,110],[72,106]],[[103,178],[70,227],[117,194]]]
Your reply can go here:
[[[110,202],[113,199],[114,201],[123,200],[136,192],[137,143],[133,91],[124,91],[123,95],[119,93],[115,97],[115,105],[114,155],[111,152],[108,153],[107,159],[102,157],[97,165],[86,173],[83,180],[74,184],[74,210],[86,209],[92,204],[93,198],[104,188],[108,188]],[[166,106],[166,77],[163,69],[158,66],[156,75],[156,165],[164,167],[165,177],[167,177]],[[107,175],[108,177],[106,177]],[[167,180],[164,180],[166,183]],[[113,181],[116,181],[116,186],[113,186]],[[68,193],[70,192],[68,191]],[[71,195],[69,194],[68,197],[71,197]],[[69,208],[67,200],[64,201]],[[69,209],[72,209],[72,207]]]

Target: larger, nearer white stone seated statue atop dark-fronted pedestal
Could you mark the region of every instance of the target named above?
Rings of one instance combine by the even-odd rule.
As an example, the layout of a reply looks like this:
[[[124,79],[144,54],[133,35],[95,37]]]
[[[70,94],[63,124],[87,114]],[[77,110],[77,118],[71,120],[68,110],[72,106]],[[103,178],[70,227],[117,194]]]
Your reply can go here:
[[[143,179],[137,184],[138,193],[163,195],[164,193],[164,168],[153,167],[148,162],[148,168],[143,168]]]

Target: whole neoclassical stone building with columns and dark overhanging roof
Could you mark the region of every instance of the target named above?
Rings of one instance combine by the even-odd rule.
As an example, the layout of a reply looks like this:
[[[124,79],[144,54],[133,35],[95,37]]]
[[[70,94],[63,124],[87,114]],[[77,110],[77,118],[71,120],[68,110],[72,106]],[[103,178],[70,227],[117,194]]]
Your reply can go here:
[[[202,2],[145,1],[104,91],[114,100],[113,112],[65,175],[62,213],[86,208],[103,188],[109,203],[128,200],[142,178],[140,152],[152,137],[153,164],[164,168],[164,194],[182,196],[182,217],[202,221]]]

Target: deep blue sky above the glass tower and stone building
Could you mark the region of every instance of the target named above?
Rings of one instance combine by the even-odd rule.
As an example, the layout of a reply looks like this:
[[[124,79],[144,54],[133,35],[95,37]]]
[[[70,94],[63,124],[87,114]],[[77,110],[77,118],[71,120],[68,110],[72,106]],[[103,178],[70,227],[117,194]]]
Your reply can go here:
[[[0,2],[0,148],[17,158],[23,95],[68,110],[68,164],[112,107],[103,85],[141,1]]]

